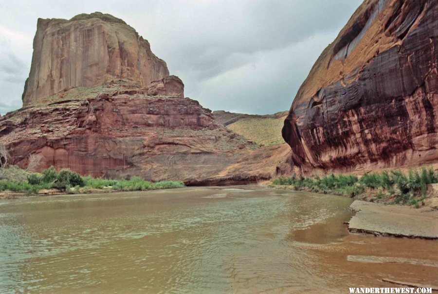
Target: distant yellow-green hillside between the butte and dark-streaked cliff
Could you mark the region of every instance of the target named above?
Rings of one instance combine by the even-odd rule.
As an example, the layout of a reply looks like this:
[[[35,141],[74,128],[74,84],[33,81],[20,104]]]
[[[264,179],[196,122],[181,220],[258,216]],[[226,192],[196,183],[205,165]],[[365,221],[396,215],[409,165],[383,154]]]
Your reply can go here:
[[[216,121],[230,130],[263,146],[283,144],[281,128],[288,111],[269,115],[213,111]]]

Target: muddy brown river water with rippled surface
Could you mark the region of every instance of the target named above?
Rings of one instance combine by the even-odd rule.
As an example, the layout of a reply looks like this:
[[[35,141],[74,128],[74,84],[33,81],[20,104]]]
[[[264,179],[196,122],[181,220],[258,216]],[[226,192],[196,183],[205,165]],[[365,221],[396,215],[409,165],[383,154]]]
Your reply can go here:
[[[255,186],[0,200],[0,293],[438,284],[438,242],[348,234],[351,202]]]

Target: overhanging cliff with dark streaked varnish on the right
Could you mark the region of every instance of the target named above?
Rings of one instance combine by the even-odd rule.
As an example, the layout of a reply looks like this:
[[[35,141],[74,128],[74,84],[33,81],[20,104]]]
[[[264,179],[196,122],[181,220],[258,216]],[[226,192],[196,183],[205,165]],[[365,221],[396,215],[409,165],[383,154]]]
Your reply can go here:
[[[438,1],[365,0],[296,94],[282,130],[289,169],[437,161],[437,48]]]

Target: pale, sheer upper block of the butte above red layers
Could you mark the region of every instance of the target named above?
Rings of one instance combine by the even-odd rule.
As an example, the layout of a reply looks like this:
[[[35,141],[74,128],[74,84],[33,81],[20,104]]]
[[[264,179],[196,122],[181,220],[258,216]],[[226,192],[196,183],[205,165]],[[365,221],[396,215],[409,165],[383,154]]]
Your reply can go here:
[[[99,12],[66,19],[38,19],[23,106],[61,90],[105,84],[114,78],[140,86],[169,75],[166,63],[123,20]]]

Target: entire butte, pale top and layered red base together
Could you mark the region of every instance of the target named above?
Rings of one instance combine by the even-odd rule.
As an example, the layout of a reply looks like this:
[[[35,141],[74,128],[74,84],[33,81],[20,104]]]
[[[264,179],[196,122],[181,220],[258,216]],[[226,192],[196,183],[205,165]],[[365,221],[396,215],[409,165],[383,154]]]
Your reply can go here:
[[[183,89],[121,19],[38,19],[24,107],[0,118],[1,142],[21,168],[41,155],[39,171],[202,185],[271,178],[289,146],[260,148]]]

